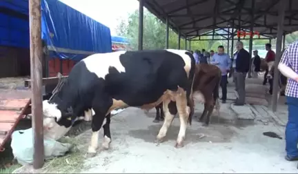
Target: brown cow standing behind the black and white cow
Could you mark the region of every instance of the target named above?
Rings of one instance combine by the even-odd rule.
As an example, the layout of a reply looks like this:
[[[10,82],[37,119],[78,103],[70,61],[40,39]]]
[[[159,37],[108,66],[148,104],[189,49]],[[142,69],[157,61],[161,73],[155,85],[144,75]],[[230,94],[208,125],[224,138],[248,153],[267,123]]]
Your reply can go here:
[[[221,81],[221,70],[214,65],[210,64],[197,64],[195,70],[195,79],[192,86],[193,98],[199,100],[204,104],[204,110],[199,117],[199,122],[205,122],[203,126],[208,126],[210,122],[210,115],[212,115],[214,107],[219,115],[219,84]],[[157,114],[153,122],[159,122],[163,120],[162,104],[155,107]],[[194,113],[194,101],[190,101],[191,114]]]

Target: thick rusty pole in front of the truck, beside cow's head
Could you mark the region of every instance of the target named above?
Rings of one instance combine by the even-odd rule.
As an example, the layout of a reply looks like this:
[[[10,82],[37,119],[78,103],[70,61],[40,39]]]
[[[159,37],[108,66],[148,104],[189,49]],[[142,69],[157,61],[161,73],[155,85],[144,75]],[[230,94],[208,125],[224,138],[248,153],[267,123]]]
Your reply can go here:
[[[32,128],[34,135],[33,168],[44,164],[43,111],[42,111],[42,42],[41,42],[41,1],[29,0],[30,27],[30,76]]]

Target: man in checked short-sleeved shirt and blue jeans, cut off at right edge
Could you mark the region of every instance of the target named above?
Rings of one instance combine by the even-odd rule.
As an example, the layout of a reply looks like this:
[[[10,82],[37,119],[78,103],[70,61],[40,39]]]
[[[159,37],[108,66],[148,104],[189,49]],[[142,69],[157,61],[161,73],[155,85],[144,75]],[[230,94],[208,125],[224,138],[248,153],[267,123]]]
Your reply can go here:
[[[285,50],[278,66],[280,72],[288,77],[286,100],[288,104],[288,123],[286,125],[286,160],[298,160],[298,41]]]

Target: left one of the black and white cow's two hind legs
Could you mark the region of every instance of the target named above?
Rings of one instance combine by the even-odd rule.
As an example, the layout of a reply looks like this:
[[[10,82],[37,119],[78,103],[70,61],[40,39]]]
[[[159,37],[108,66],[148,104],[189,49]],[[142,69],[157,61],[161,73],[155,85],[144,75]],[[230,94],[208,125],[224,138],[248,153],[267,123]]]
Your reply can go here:
[[[172,124],[174,116],[177,114],[175,102],[171,101],[170,99],[166,99],[165,101],[163,101],[163,113],[165,115],[165,119],[163,122],[163,126],[161,126],[159,134],[157,135],[157,143],[163,142],[163,138],[166,137],[168,128],[170,127],[170,124]]]

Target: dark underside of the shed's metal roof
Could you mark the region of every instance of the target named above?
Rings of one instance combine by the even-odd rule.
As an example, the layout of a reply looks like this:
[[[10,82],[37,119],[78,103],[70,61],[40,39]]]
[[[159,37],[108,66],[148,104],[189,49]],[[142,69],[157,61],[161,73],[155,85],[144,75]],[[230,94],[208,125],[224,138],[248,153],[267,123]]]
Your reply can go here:
[[[282,0],[286,3],[284,32],[298,30],[298,1]],[[246,29],[250,27],[252,0],[145,0],[144,6],[162,21],[168,15],[169,24],[183,36],[195,36],[213,30],[226,28],[235,21]],[[217,5],[217,6],[215,6]],[[279,0],[255,0],[254,30],[270,37],[276,37]],[[239,11],[240,10],[240,11]],[[241,19],[239,20],[239,15]],[[215,26],[213,25],[215,21]]]

